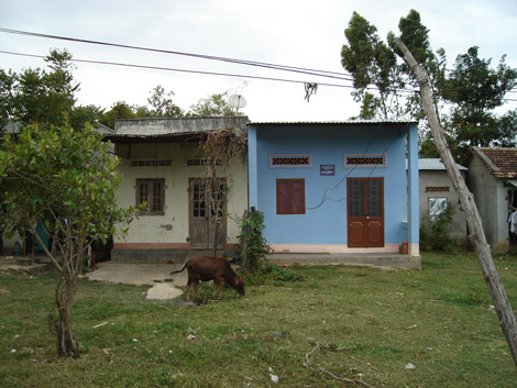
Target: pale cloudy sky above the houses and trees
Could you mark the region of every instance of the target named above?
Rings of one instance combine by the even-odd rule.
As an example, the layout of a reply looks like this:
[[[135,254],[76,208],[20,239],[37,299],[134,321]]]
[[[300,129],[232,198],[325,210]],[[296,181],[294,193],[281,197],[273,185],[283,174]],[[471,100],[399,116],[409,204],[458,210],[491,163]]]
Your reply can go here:
[[[384,40],[398,33],[398,21],[415,9],[436,51],[448,64],[471,46],[496,66],[503,55],[517,68],[517,1],[405,0],[0,0],[0,29],[116,43],[180,53],[245,59],[339,73],[344,30],[356,11]],[[145,106],[161,85],[188,110],[199,99],[229,91],[243,96],[240,111],[253,122],[343,121],[359,114],[351,81],[278,71],[191,56],[134,51],[0,32],[0,51],[45,56],[66,48],[76,59],[113,62],[195,71],[152,70],[76,63],[78,104],[109,109],[117,101]],[[0,53],[0,67],[44,68],[42,58]],[[238,77],[237,75],[246,76]],[[290,81],[249,77],[275,78]],[[307,101],[305,82],[318,84]],[[330,86],[340,85],[340,86]],[[517,100],[517,92],[507,96]],[[516,109],[508,101],[503,111]]]

